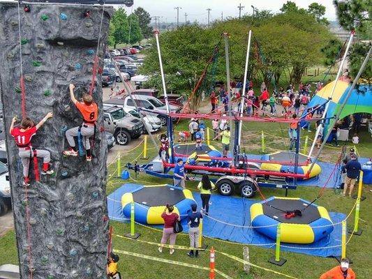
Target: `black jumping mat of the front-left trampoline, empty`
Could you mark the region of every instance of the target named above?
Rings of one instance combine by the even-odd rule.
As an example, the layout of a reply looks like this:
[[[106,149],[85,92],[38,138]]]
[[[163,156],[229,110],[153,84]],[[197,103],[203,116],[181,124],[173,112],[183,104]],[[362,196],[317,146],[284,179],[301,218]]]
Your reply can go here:
[[[168,186],[144,187],[133,192],[133,200],[147,206],[174,205],[185,199],[184,192]]]

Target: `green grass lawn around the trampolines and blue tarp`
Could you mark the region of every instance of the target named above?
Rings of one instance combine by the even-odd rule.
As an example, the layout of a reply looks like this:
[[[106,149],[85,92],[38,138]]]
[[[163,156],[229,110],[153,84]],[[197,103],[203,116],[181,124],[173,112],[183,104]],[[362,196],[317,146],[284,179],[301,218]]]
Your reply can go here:
[[[187,121],[180,121],[179,125],[175,130],[185,130],[187,128]],[[283,135],[286,137],[287,127],[285,125],[278,125],[277,123],[246,123],[244,125],[244,133],[246,138],[244,138],[244,146],[249,153],[259,153],[260,147],[260,137],[259,136],[249,136],[254,133],[260,132],[262,129],[265,130],[267,135],[267,149],[283,149],[285,150],[285,144],[278,144],[275,142],[279,140],[283,142],[283,139],[279,139]],[[282,134],[283,133],[283,134]],[[306,135],[306,134],[305,134]],[[368,133],[360,133],[361,144],[358,146],[358,150],[361,156],[371,156],[371,137]],[[313,133],[310,134],[313,137]],[[156,155],[157,150],[149,142],[149,158]],[[216,145],[218,146],[218,145]],[[329,153],[331,158],[336,158],[337,154],[340,153],[341,149],[325,149],[325,153]],[[126,163],[135,160],[139,157],[138,163],[145,163],[140,157],[142,153],[142,145],[138,146],[136,149],[122,153],[121,165],[124,166]],[[110,181],[107,183],[107,195],[112,193],[115,189],[119,188],[124,181],[116,179],[116,164],[112,164],[108,168],[109,174],[114,174]],[[131,172],[131,177],[134,178],[133,172]],[[138,183],[144,183],[146,185],[157,184],[157,183],[170,183],[168,180],[162,180],[155,178],[153,176],[148,176],[146,174],[140,173],[136,179]],[[128,182],[133,182],[133,179]],[[195,181],[188,181],[187,187],[191,190],[195,190]],[[309,188],[309,187],[298,187],[297,190],[290,190],[289,197],[302,197],[307,200],[313,200],[319,193],[320,188]],[[369,278],[372,273],[371,268],[371,250],[372,250],[372,236],[371,236],[371,221],[372,217],[369,214],[372,210],[371,202],[372,193],[371,186],[364,186],[364,195],[367,199],[361,204],[360,213],[360,227],[363,229],[362,236],[352,236],[350,242],[347,246],[347,255],[353,260],[352,269],[357,273],[358,278]],[[271,197],[272,195],[284,196],[284,190],[262,188],[262,193],[266,197]],[[216,194],[217,195],[217,194]],[[260,200],[258,195],[254,197],[255,200]],[[355,200],[349,199],[347,197],[342,197],[341,195],[336,195],[333,189],[325,190],[325,194],[318,199],[317,204],[325,206],[329,211],[336,211],[348,214],[354,205]],[[218,204],[213,204],[212,206],[218,206]],[[221,209],[223,210],[223,209]],[[241,214],[237,212],[237,214]],[[351,214],[348,220],[348,226],[352,227],[354,222],[354,213]],[[128,224],[111,222],[114,228],[114,234],[124,235],[130,232],[130,226]],[[137,232],[140,232],[140,240],[149,241],[152,243],[159,243],[161,240],[161,231],[154,230],[149,227],[136,225]],[[341,236],[340,236],[341,237]],[[350,237],[350,234],[348,235]],[[273,241],[274,242],[274,241]],[[242,257],[243,247],[239,243],[228,243],[225,241],[218,241],[216,239],[204,239],[204,243],[207,243],[209,248],[213,246],[218,251],[226,252],[230,255],[235,255],[237,257]],[[188,235],[180,234],[177,236],[177,245],[188,246]],[[209,255],[208,252],[202,252],[199,259],[191,259],[187,257],[185,250],[176,250],[174,255],[168,254],[168,249],[165,248],[163,254],[160,254],[157,250],[157,246],[141,243],[138,241],[133,241],[130,239],[122,239],[117,236],[113,237],[113,248],[116,250],[124,250],[130,252],[137,252],[142,255],[150,255],[154,257],[160,257],[162,259],[172,259],[174,261],[185,262],[188,264],[197,264],[199,266],[209,266]],[[267,260],[269,257],[274,255],[274,250],[260,248],[255,246],[249,246],[250,259],[253,264],[262,266],[266,269],[273,269],[281,273],[294,276],[295,278],[302,279],[312,279],[319,278],[320,274],[327,269],[336,266],[335,259],[328,259],[322,257],[313,257],[309,255],[302,255],[293,252],[282,252],[281,256],[288,260],[288,262],[282,266],[277,267],[269,264]],[[15,235],[14,232],[8,232],[5,236],[0,239],[0,264],[10,263],[17,264],[17,254],[15,248]],[[216,269],[222,271],[232,278],[284,278],[278,276],[274,273],[268,271],[263,271],[258,268],[251,268],[250,274],[245,274],[243,272],[243,265],[235,260],[225,257],[219,253],[216,253]],[[207,271],[201,271],[199,269],[192,269],[191,267],[185,266],[174,266],[169,263],[153,262],[150,259],[141,259],[137,257],[131,257],[127,255],[120,255],[119,261],[119,271],[123,278],[151,278],[151,279],[163,279],[163,278],[208,278]],[[221,278],[221,276],[216,276],[216,278]]]

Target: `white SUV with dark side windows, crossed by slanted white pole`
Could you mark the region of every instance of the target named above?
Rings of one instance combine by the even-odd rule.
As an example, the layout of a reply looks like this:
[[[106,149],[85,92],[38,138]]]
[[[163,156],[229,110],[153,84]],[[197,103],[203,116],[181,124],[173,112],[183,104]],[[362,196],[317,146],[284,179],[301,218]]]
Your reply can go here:
[[[162,126],[167,125],[167,117],[165,116],[165,114],[161,114],[161,112],[163,113],[167,112],[167,108],[165,107],[164,103],[161,103],[160,100],[152,96],[133,95],[133,99],[137,104],[137,107],[144,109],[143,110],[144,114],[154,115],[161,120]],[[135,110],[133,100],[131,100],[129,96],[126,96],[124,98],[124,107]],[[179,113],[181,110],[179,109],[179,107],[170,105],[170,111]],[[177,119],[174,117],[173,120],[175,121]]]

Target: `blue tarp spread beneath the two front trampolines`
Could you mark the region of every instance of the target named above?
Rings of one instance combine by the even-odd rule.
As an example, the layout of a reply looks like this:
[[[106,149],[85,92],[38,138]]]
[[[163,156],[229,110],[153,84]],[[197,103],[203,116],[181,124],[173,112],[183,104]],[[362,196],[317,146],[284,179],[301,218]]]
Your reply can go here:
[[[107,208],[111,220],[118,220],[121,222],[127,221],[121,211],[121,196],[138,187],[140,186],[133,183],[127,183],[107,197]],[[201,200],[199,193],[194,193],[194,198],[200,208]],[[249,208],[255,202],[257,201],[241,197],[212,195],[209,209],[209,216],[211,218],[204,218],[203,234],[205,236],[226,241],[234,241],[237,243],[251,244],[266,248],[275,248],[275,241],[273,239],[269,239],[267,236],[263,236],[262,234],[255,232],[254,229],[249,228],[251,223]],[[331,212],[329,215],[334,223],[341,223],[341,221],[345,219],[345,214],[343,213]],[[188,232],[186,221],[184,223],[184,232]],[[156,227],[161,228],[162,226]],[[340,256],[341,224],[336,225],[334,231],[329,234],[329,236],[316,243],[304,245],[283,243],[281,248],[287,251],[299,252],[318,257]]]

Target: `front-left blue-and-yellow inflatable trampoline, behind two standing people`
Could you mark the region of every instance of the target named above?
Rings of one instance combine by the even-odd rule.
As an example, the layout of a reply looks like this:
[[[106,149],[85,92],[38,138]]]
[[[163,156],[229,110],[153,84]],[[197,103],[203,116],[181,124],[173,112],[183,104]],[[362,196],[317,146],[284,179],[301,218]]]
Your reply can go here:
[[[131,202],[134,202],[135,221],[142,224],[163,224],[161,213],[165,204],[174,205],[174,212],[186,218],[191,204],[195,204],[190,190],[168,185],[142,186],[121,197],[124,216],[131,217]]]

